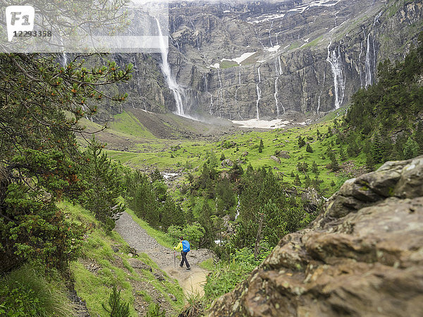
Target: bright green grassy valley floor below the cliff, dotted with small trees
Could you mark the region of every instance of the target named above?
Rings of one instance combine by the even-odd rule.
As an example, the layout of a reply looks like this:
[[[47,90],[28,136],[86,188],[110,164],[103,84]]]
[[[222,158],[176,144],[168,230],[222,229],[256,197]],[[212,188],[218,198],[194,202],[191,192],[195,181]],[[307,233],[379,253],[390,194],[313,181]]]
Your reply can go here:
[[[224,154],[226,159],[237,161],[242,159],[242,154],[248,152],[247,162],[243,164],[246,168],[249,163],[255,168],[269,167],[274,168],[276,173],[283,175],[284,182],[292,183],[294,178],[290,176],[291,172],[297,174],[298,162],[307,162],[309,169],[312,167],[313,161],[316,161],[319,166],[319,178],[323,180],[322,188],[326,188],[326,196],[329,196],[343,183],[348,175],[343,175],[342,172],[333,173],[326,168],[326,164],[330,163],[329,157],[324,152],[327,147],[331,147],[336,154],[339,153],[339,145],[336,144],[336,137],[325,137],[321,141],[317,140],[317,130],[321,134],[325,134],[328,128],[333,128],[333,119],[339,116],[338,113],[343,113],[344,109],[335,113],[330,113],[327,118],[321,122],[301,128],[278,129],[269,132],[238,132],[235,135],[222,138],[220,142],[192,142],[183,139],[179,141],[167,142],[161,139],[152,139],[150,144],[138,144],[140,153],[123,152],[123,151],[109,151],[109,156],[133,168],[152,168],[157,167],[159,170],[183,170],[185,173],[200,174],[200,170],[204,161],[207,160],[207,151],[214,151],[216,159],[218,160],[218,170],[228,170],[228,168],[221,168],[220,157]],[[125,128],[130,130],[130,126]],[[122,130],[122,129],[121,129]],[[135,131],[129,131],[131,135],[135,135]],[[298,148],[298,137],[310,137],[310,142],[313,153],[308,153],[306,147]],[[258,152],[260,139],[264,142],[264,150],[262,153]],[[238,146],[230,149],[221,147],[221,142],[228,140],[228,142],[235,142]],[[333,142],[333,147],[331,143]],[[178,145],[180,149],[172,149],[173,146]],[[142,150],[141,150],[142,149]],[[288,151],[290,159],[281,159],[281,163],[277,163],[271,156],[275,154],[276,150]],[[346,147],[343,148],[346,151]],[[171,156],[174,156],[171,158]],[[338,157],[338,155],[337,155]],[[364,165],[364,155],[360,154],[357,158],[348,158],[355,162],[357,166]],[[339,163],[343,163],[339,160]],[[309,171],[310,178],[314,178],[314,174]],[[304,175],[300,173],[300,180],[304,180]],[[331,182],[336,183],[336,187],[331,187]],[[174,194],[178,194],[177,192]]]

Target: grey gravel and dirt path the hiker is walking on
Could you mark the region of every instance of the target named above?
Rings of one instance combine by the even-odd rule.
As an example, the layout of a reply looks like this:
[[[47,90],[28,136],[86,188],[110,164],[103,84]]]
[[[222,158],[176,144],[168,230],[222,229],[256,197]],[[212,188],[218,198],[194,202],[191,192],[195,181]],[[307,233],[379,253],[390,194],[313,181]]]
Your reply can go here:
[[[165,271],[171,278],[176,278],[183,288],[185,296],[192,292],[203,294],[203,285],[206,281],[206,271],[198,265],[204,260],[212,258],[212,254],[207,249],[191,250],[187,259],[191,266],[191,271],[187,271],[185,266],[179,267],[180,252],[176,252],[176,268],[173,262],[173,250],[163,247],[150,237],[147,232],[140,227],[128,213],[123,213],[116,221],[116,232],[138,252],[147,254],[150,259],[157,263],[161,270]]]

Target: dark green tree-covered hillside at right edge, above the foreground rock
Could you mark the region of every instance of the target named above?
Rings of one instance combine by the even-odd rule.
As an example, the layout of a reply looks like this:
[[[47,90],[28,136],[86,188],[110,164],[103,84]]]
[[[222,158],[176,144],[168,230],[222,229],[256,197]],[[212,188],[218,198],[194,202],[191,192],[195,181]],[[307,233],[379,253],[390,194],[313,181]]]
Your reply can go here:
[[[353,96],[340,137],[347,153],[364,151],[369,169],[388,160],[411,159],[423,154],[422,111],[423,33],[405,61],[379,64],[379,81]]]

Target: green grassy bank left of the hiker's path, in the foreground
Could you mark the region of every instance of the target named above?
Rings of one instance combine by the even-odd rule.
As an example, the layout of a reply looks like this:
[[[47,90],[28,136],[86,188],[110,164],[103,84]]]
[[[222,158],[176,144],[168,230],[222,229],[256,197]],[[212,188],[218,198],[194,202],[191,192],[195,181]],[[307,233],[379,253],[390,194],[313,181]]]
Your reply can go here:
[[[176,280],[171,280],[164,272],[161,272],[166,277],[164,282],[159,282],[149,271],[142,271],[141,274],[135,272],[128,263],[128,253],[130,252],[128,244],[118,233],[111,232],[107,235],[99,227],[97,220],[78,205],[61,203],[59,206],[71,213],[71,216],[80,223],[92,228],[85,240],[80,260],[71,263],[71,271],[75,278],[75,290],[78,292],[78,296],[87,302],[87,308],[92,316],[104,316],[102,303],[108,302],[114,283],[118,289],[122,290],[122,298],[130,303],[130,316],[137,316],[133,305],[135,296],[142,297],[141,300],[147,304],[154,303],[152,294],[149,294],[147,290],[134,287],[139,283],[152,285],[153,289],[158,290],[161,296],[171,304],[174,311],[182,309],[183,291]],[[147,227],[146,224],[144,226]],[[117,246],[119,251],[114,252],[113,246]],[[149,259],[147,254],[140,254],[139,259],[152,266],[153,269],[159,270],[157,264]],[[95,272],[87,270],[87,265],[90,263],[95,263],[100,269]],[[168,294],[174,294],[177,301],[173,302]]]

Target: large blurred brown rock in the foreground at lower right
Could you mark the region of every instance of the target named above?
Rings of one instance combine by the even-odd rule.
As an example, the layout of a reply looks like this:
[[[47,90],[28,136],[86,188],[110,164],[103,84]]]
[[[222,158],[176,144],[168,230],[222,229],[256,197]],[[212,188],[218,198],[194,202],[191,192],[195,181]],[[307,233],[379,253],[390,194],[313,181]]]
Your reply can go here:
[[[345,182],[208,316],[423,316],[423,156]]]

